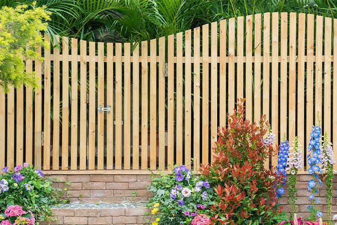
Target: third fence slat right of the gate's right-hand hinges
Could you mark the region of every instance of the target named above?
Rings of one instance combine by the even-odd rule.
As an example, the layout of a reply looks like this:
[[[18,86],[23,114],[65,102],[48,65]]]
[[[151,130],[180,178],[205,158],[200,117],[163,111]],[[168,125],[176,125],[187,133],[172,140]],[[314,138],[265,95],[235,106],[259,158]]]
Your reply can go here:
[[[191,169],[192,64],[191,30],[185,31],[185,165]]]

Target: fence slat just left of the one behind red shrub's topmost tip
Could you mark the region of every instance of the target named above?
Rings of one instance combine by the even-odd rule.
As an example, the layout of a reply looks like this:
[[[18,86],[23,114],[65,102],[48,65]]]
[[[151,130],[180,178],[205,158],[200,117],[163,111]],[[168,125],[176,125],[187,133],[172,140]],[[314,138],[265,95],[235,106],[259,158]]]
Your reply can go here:
[[[228,20],[228,114],[235,107],[235,18]]]

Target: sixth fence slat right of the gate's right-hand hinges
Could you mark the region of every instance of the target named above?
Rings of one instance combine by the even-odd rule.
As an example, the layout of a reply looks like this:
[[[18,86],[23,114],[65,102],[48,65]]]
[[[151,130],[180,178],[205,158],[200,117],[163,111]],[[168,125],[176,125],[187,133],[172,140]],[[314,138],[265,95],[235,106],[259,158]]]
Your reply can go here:
[[[242,23],[242,26],[243,26],[243,23]],[[215,146],[215,142],[218,139],[218,62],[217,62],[217,56],[218,56],[218,23],[213,22],[211,23],[211,149]],[[243,72],[242,72],[242,79],[243,79]],[[243,80],[242,80],[242,85],[243,85]],[[243,86],[242,86],[242,89],[243,89]],[[242,93],[242,97],[243,97],[243,93]],[[213,151],[211,151],[211,160],[212,159],[213,159]]]

